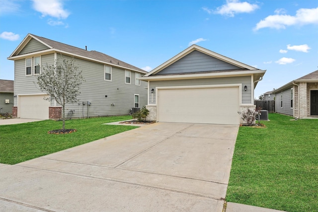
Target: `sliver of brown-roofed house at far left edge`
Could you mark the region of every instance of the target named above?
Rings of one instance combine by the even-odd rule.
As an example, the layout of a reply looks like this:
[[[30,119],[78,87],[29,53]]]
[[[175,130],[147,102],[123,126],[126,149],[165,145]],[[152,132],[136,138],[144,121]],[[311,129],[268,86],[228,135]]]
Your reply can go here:
[[[0,114],[12,113],[14,81],[0,79]]]

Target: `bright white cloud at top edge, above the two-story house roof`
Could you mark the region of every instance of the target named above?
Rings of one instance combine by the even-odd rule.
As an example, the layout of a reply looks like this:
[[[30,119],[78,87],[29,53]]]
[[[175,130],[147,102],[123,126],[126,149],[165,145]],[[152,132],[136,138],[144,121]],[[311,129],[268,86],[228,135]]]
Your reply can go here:
[[[42,17],[47,15],[55,18],[67,18],[70,12],[63,8],[62,0],[32,0],[33,8],[42,13]]]

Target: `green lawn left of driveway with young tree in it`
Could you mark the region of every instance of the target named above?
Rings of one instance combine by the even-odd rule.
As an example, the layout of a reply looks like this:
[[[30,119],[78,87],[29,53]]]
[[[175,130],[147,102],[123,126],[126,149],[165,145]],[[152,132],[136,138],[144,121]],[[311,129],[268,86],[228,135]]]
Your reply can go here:
[[[127,130],[133,126],[102,125],[132,119],[115,116],[67,120],[65,129],[76,129],[71,134],[48,134],[61,129],[62,122],[45,120],[16,125],[0,126],[0,163],[16,164],[53,152],[61,151],[90,141],[95,141]]]

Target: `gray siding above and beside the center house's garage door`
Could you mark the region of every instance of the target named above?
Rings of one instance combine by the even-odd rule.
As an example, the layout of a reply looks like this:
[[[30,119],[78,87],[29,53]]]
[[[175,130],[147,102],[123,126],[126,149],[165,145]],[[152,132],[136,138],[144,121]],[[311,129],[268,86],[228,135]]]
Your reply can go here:
[[[191,85],[220,85],[220,84],[242,84],[242,104],[251,103],[251,76],[238,76],[238,77],[222,77],[222,78],[202,78],[202,79],[181,79],[181,80],[162,80],[150,81],[149,87],[149,103],[156,104],[156,87],[165,86],[191,86]],[[247,90],[244,91],[244,86]],[[153,102],[151,89],[154,88]]]

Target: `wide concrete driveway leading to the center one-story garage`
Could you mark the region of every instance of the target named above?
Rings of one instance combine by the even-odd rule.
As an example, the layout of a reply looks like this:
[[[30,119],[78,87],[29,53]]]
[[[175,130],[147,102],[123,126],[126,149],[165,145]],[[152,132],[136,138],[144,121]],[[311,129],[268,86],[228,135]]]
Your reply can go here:
[[[156,123],[0,166],[0,211],[222,212],[239,126]]]

